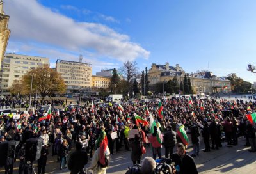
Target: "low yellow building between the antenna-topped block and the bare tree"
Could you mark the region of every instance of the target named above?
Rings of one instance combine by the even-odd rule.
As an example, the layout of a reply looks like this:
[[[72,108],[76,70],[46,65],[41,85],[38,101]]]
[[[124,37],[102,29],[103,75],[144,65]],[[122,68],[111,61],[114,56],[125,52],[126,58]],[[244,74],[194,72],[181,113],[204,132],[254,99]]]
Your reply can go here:
[[[104,77],[99,75],[92,75],[92,90],[99,91],[109,87],[111,77]]]

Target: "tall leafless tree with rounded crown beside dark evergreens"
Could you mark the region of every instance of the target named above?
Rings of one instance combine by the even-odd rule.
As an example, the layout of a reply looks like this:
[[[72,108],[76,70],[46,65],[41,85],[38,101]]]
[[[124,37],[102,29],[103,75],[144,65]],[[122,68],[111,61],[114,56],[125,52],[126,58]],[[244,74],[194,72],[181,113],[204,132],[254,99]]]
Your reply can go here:
[[[123,67],[121,67],[121,71],[127,78],[127,81],[131,82],[131,79],[136,78],[138,75],[138,66],[136,61],[126,61]]]

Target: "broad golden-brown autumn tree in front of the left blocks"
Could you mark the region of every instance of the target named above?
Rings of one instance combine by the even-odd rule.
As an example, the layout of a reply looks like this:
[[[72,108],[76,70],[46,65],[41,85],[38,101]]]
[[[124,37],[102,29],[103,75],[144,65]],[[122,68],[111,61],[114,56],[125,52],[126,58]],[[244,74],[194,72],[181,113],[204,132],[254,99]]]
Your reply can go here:
[[[56,70],[51,69],[48,65],[32,69],[22,77],[20,83],[22,84],[22,90],[24,90],[25,93],[30,92],[31,81],[32,93],[40,93],[42,102],[47,95],[51,96],[54,94],[65,93],[66,91],[66,85],[61,74],[56,72]],[[12,86],[15,85],[17,84],[13,83]]]

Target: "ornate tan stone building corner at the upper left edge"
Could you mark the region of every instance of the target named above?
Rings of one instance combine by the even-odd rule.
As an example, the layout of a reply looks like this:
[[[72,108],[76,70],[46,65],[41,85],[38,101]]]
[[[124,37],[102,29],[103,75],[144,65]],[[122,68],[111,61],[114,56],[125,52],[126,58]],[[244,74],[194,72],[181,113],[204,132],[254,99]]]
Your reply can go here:
[[[0,0],[0,67],[1,62],[4,58],[4,53],[6,51],[6,47],[8,44],[8,40],[10,37],[10,29],[8,29],[9,16],[4,14],[3,11],[3,1]]]

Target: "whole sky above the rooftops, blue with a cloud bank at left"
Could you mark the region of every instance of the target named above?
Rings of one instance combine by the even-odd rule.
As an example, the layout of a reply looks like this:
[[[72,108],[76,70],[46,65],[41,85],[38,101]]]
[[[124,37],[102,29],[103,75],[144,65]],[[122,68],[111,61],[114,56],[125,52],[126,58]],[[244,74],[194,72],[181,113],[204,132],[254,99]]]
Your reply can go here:
[[[186,72],[232,72],[253,83],[256,1],[4,0],[11,36],[6,52],[92,63],[179,64]]]

